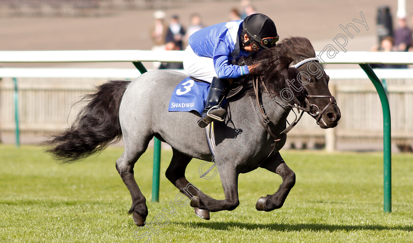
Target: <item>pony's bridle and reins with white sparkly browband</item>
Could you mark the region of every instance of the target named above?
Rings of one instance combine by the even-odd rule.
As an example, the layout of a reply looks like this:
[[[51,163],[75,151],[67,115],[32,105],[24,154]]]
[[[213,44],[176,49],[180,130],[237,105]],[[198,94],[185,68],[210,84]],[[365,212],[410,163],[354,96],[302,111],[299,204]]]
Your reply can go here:
[[[295,65],[292,65],[291,67],[295,67],[298,69],[298,67],[302,66],[303,64],[310,62],[310,61],[316,61],[318,62],[319,60],[316,57],[311,57],[311,58],[307,58],[304,59],[298,63],[296,63]],[[278,136],[274,135],[271,132],[271,129],[269,128],[268,124],[271,122],[271,120],[269,119],[268,115],[266,114],[265,108],[263,103],[260,101],[260,92],[259,92],[259,82],[261,82],[261,85],[264,87],[264,89],[266,90],[267,94],[269,95],[269,97],[276,102],[278,105],[280,105],[281,107],[291,107],[294,114],[295,114],[295,119],[292,123],[289,123],[289,126],[282,131]],[[274,138],[274,142],[278,142],[281,140],[281,138],[279,137],[284,137],[288,132],[290,132],[295,125],[298,123],[298,121],[301,119],[302,115],[304,114],[304,112],[307,112],[308,114],[310,114],[312,117],[314,117],[317,121],[317,125],[320,124],[320,120],[322,120],[322,116],[325,112],[325,110],[327,110],[327,108],[329,106],[331,106],[332,104],[337,104],[334,96],[332,95],[306,95],[306,97],[304,98],[304,102],[306,105],[306,108],[299,106],[298,104],[294,104],[294,105],[290,105],[290,104],[284,104],[281,101],[279,101],[277,98],[273,98],[271,96],[271,94],[268,92],[268,89],[266,88],[266,85],[264,83],[264,81],[260,80],[259,78],[256,77],[253,80],[253,87],[254,87],[254,93],[255,93],[255,98],[256,98],[256,102],[257,102],[257,108],[254,106],[254,103],[252,101],[252,98],[250,96],[250,102],[252,105],[252,108],[254,110],[258,109],[260,111],[261,114],[258,114],[258,112],[255,112],[257,114],[258,120],[260,121],[261,125],[264,127],[264,129],[267,131],[267,133]],[[330,102],[320,111],[320,108],[315,105],[315,104],[311,104],[311,102],[308,100],[308,98],[311,99],[317,99],[317,98],[329,98]],[[295,113],[294,109],[297,109],[297,112],[300,113],[300,110],[302,110],[303,112],[301,112],[301,114],[299,115],[299,117],[297,116],[297,114]],[[316,111],[313,110],[313,108],[316,109]],[[324,121],[323,121],[324,122]],[[288,123],[288,121],[287,121]],[[325,123],[324,123],[325,124]],[[275,146],[274,146],[275,148]]]

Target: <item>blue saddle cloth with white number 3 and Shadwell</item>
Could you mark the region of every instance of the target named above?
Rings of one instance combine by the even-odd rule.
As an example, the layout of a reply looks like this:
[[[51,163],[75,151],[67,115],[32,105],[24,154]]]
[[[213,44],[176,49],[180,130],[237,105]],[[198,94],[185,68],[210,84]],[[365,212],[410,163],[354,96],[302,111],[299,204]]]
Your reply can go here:
[[[195,110],[202,114],[210,85],[207,82],[194,81],[190,77],[182,80],[172,93],[168,111]]]

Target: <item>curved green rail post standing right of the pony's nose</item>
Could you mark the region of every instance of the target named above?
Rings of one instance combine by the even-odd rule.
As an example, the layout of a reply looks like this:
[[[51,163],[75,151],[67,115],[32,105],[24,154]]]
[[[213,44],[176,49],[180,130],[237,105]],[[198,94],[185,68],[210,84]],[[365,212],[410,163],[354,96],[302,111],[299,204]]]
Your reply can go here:
[[[383,109],[383,210],[391,212],[391,120],[390,106],[382,82],[368,64],[359,64],[376,87]]]

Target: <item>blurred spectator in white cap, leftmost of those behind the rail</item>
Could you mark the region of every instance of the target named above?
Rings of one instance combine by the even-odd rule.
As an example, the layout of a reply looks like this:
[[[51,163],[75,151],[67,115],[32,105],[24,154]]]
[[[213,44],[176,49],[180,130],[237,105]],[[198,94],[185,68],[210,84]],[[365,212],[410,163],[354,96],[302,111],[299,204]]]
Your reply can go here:
[[[153,13],[153,18],[155,22],[150,29],[150,37],[153,41],[152,51],[165,50],[165,38],[168,30],[165,24],[166,14],[163,11],[157,10]],[[154,69],[157,69],[161,63],[153,62],[152,65]]]

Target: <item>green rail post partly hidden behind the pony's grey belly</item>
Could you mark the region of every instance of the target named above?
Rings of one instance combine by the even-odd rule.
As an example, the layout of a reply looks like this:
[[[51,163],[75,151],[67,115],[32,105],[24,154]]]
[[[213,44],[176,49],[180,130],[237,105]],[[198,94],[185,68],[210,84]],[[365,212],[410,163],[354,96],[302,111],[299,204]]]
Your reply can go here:
[[[141,74],[148,72],[142,62],[133,62]],[[159,178],[161,167],[161,141],[155,137],[153,144],[153,170],[152,170],[152,202],[159,202]]]

